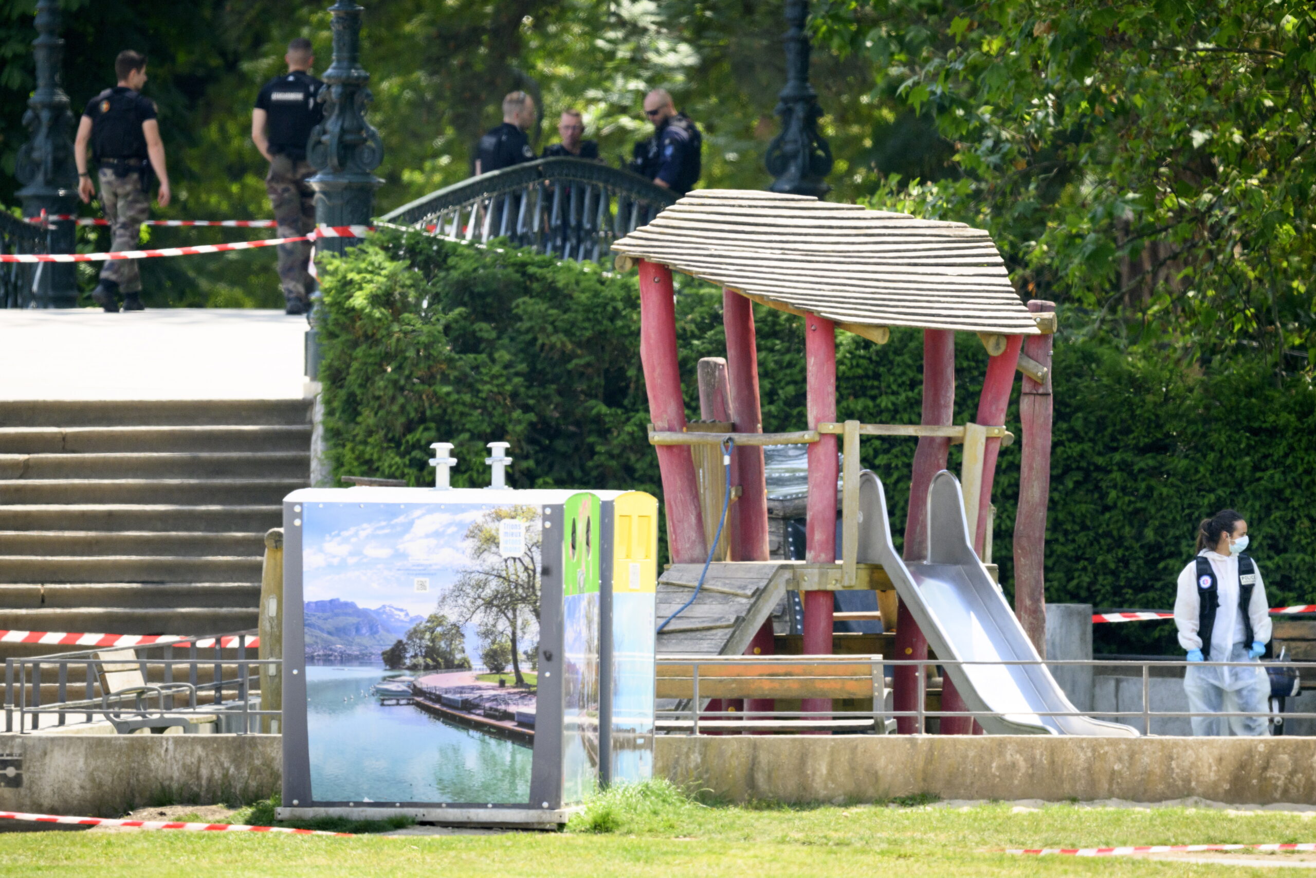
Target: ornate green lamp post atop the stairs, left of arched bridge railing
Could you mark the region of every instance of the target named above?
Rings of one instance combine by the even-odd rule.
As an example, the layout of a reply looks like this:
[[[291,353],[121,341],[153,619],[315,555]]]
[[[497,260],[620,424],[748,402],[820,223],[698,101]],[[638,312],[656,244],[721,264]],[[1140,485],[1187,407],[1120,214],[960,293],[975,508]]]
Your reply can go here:
[[[318,172],[308,183],[316,191],[316,225],[368,225],[375,190],[383,183],[371,171],[384,159],[384,145],[370,122],[370,74],[361,66],[361,14],[353,0],[337,0],[333,13],[333,63],[324,74],[325,118],[307,143],[307,161]],[[321,238],[317,253],[342,253],[359,238]],[[316,340],[320,291],[311,294],[307,332],[307,375],[316,378],[320,346]]]

